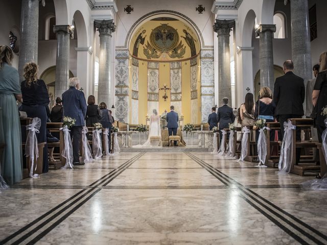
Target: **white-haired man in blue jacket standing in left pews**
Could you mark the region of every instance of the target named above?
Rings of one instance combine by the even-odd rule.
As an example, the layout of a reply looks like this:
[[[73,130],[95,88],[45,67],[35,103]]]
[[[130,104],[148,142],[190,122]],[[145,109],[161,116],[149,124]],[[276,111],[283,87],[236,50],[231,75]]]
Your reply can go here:
[[[62,94],[63,115],[76,119],[71,129],[73,140],[74,165],[83,165],[80,162],[79,150],[82,138],[82,129],[85,126],[86,100],[84,93],[79,90],[80,81],[78,78],[69,79],[69,88]]]

